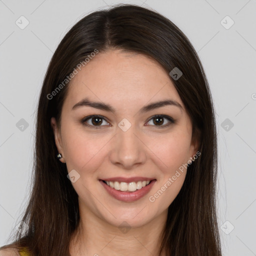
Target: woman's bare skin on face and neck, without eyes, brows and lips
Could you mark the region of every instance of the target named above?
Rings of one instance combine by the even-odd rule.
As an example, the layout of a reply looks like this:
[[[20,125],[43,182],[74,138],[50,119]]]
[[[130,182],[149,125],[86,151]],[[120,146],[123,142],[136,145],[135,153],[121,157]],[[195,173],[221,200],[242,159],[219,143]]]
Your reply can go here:
[[[88,97],[111,105],[115,114],[90,106],[72,110]],[[172,99],[174,105],[138,113],[144,105]],[[81,120],[88,115],[105,117],[99,128],[87,127]],[[153,115],[168,115],[157,125]],[[126,118],[127,131],[118,123]],[[86,123],[93,125],[93,119]],[[95,119],[94,119],[95,121]],[[160,127],[169,123],[168,126]],[[147,125],[146,125],[147,124]],[[158,238],[164,228],[167,210],[178,194],[186,174],[150,202],[153,195],[192,157],[198,147],[192,138],[191,120],[185,111],[169,74],[155,60],[141,54],[118,50],[99,52],[71,80],[61,112],[61,127],[51,118],[58,152],[68,172],[80,177],[72,183],[78,194],[80,232],[70,241],[71,255],[157,255]],[[115,176],[146,176],[156,179],[148,194],[134,202],[123,202],[109,195],[98,179]],[[130,229],[118,226],[126,221]]]

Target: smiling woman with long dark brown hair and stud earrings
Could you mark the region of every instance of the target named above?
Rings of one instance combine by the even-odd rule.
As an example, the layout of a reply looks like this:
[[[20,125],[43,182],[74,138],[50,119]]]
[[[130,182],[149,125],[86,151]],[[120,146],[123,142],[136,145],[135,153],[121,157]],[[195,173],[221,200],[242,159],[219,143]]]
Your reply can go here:
[[[49,63],[33,189],[1,255],[221,255],[216,149],[187,37],[136,5],[90,13]]]

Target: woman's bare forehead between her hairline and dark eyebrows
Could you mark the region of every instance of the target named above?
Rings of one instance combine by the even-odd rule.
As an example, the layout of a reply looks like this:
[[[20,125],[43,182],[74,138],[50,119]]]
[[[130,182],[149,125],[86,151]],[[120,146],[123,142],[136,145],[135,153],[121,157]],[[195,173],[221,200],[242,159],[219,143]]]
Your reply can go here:
[[[64,104],[69,108],[84,97],[117,107],[162,99],[172,99],[183,106],[168,72],[142,54],[100,52],[78,70],[68,86]]]

